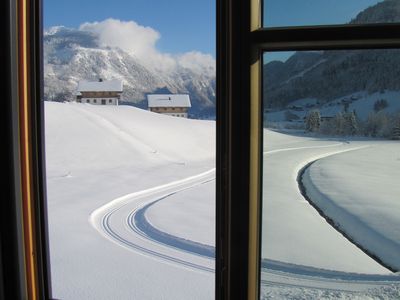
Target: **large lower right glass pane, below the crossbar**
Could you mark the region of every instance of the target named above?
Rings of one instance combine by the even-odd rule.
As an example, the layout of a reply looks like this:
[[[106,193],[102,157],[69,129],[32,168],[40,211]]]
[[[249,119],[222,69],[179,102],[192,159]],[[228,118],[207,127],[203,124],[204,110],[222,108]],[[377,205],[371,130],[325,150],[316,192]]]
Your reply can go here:
[[[398,298],[399,60],[264,54],[263,299]]]

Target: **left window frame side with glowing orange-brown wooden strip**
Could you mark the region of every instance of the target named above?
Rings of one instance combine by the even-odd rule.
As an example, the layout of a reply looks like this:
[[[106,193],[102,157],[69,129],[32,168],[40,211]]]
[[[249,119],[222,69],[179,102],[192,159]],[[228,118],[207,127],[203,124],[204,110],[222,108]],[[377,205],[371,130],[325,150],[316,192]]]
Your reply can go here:
[[[0,265],[7,274],[0,292],[6,299],[50,299],[41,101],[42,2],[6,0],[2,5],[2,33],[8,42],[1,55],[8,81],[3,89],[7,96],[3,130],[10,159],[5,168],[9,189],[3,198],[2,219],[11,233],[0,236]]]

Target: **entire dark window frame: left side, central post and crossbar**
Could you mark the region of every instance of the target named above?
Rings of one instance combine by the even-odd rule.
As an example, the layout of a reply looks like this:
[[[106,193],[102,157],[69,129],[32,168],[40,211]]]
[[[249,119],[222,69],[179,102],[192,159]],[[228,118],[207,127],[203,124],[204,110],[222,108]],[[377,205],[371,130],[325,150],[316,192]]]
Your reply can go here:
[[[51,299],[44,159],[42,1],[2,1],[9,143],[0,296]],[[216,0],[216,299],[259,299],[262,53],[400,48],[400,24],[262,28],[262,0]],[[4,55],[3,55],[4,51]],[[7,258],[7,259],[6,259]],[[3,274],[10,274],[3,276]]]

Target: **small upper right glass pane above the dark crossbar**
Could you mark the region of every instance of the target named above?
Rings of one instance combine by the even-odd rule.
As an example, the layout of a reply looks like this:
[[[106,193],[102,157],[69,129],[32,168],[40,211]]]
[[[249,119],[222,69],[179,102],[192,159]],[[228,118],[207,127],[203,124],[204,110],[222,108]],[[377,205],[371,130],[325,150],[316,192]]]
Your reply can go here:
[[[264,27],[397,23],[397,0],[264,0]]]

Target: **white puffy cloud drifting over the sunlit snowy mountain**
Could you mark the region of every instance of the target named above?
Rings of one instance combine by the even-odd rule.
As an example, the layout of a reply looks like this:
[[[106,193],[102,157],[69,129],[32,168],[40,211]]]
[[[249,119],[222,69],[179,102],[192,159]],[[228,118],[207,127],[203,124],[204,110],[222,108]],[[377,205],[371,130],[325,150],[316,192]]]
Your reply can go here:
[[[134,21],[106,19],[101,22],[84,23],[79,29],[97,35],[100,46],[125,50],[155,70],[171,71],[179,65],[195,72],[215,74],[215,59],[211,55],[198,51],[181,55],[162,53],[156,47],[161,37],[160,33]]]

